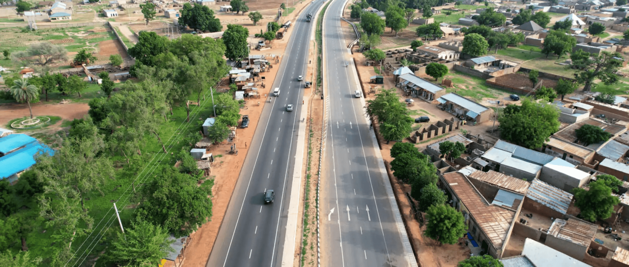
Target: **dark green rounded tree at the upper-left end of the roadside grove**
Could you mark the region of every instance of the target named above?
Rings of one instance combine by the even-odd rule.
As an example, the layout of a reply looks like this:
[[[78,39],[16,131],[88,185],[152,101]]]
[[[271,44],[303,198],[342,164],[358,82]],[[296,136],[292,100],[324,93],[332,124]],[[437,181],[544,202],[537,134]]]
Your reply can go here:
[[[189,5],[189,3],[186,4]],[[166,52],[168,42],[166,37],[159,36],[154,31],[142,31],[138,35],[138,43],[129,48],[129,55],[142,64],[152,67],[157,64],[155,56]]]

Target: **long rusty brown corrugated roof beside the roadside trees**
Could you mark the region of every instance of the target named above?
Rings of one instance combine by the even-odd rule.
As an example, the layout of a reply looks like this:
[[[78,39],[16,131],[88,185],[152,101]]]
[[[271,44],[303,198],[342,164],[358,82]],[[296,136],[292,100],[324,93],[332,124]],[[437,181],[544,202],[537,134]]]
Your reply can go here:
[[[491,244],[498,250],[502,249],[504,239],[515,219],[515,211],[498,205],[489,205],[463,174],[445,173],[443,179],[447,183],[446,186],[452,188],[457,198],[465,205]]]

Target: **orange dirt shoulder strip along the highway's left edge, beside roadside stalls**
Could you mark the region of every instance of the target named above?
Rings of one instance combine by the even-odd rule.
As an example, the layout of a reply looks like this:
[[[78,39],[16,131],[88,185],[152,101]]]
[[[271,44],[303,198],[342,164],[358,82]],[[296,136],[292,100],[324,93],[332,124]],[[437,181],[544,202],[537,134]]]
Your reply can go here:
[[[297,5],[298,10],[291,13],[291,15],[287,17],[287,19],[294,20],[295,16],[299,14],[299,11],[305,6],[306,3],[301,3]],[[266,22],[264,22],[263,25],[266,25]],[[243,26],[246,26],[247,28],[249,28],[250,26],[253,27],[252,24],[245,24]],[[252,29],[250,29],[249,31],[250,33],[253,32]],[[250,54],[283,55],[284,49],[286,48],[286,44],[289,40],[291,33],[292,30],[289,30],[288,36],[284,37],[282,40],[273,40],[270,43],[270,46],[273,47],[272,49],[264,51],[252,50]],[[282,58],[283,57],[280,57],[280,59]],[[240,112],[241,114],[248,114],[251,118],[251,123],[248,128],[238,128],[237,130],[237,138],[235,139],[235,144],[238,148],[238,154],[228,154],[231,145],[230,143],[214,145],[212,147],[213,154],[223,155],[223,157],[218,157],[214,160],[210,174],[211,176],[214,176],[214,188],[212,190],[213,215],[210,222],[202,225],[199,230],[191,234],[191,238],[189,240],[189,243],[187,244],[186,251],[184,252],[184,257],[186,259],[183,266],[185,267],[205,266],[209,257],[209,253],[212,251],[214,241],[216,240],[216,235],[218,234],[218,230],[220,229],[223,217],[225,217],[225,212],[227,210],[228,203],[230,202],[231,194],[233,193],[234,187],[237,182],[237,179],[233,179],[235,177],[234,174],[240,173],[240,168],[248,152],[248,147],[246,144],[250,144],[250,141],[252,140],[253,133],[255,132],[255,127],[257,127],[257,123],[259,122],[262,108],[264,107],[265,103],[267,103],[267,101],[265,101],[265,95],[269,94],[269,90],[272,87],[271,85],[273,84],[277,74],[277,70],[279,69],[279,64],[272,65],[273,68],[270,69],[270,72],[260,74],[260,76],[265,76],[264,84],[266,85],[266,88],[259,87],[259,93],[262,94],[262,97],[260,99],[248,99],[245,104],[245,108],[243,108],[243,110],[241,110]],[[311,70],[309,70],[309,74],[311,74]],[[308,96],[308,93],[309,92],[306,91],[304,95]],[[257,104],[258,102],[260,102],[259,106]],[[299,246],[296,246],[296,250],[298,250],[299,248]]]

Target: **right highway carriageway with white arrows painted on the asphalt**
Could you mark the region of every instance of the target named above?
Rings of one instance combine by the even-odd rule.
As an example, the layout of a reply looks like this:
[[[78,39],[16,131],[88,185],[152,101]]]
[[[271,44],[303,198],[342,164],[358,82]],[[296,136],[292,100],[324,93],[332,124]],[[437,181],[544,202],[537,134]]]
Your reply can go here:
[[[343,4],[334,0],[323,20],[328,115],[321,172],[321,266],[417,266],[395,213],[398,207],[364,101],[354,97],[360,88],[343,40]]]

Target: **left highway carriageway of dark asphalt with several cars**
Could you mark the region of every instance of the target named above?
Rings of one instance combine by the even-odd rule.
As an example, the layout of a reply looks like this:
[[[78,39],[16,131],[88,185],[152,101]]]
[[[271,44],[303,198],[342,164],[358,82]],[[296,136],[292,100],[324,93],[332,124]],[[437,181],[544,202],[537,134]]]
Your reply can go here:
[[[303,123],[299,117],[303,108],[303,81],[297,81],[297,77],[306,75],[311,27],[315,24],[306,22],[306,14],[315,14],[322,4],[321,0],[308,4],[298,19],[292,21],[289,28],[292,33],[270,89],[272,92],[273,88],[280,88],[280,94],[270,96],[272,102],[264,106],[209,255],[208,267],[282,265],[289,200],[291,194],[299,193],[290,190],[298,128]],[[286,111],[289,104],[294,105],[293,111]],[[298,168],[301,169],[301,164]],[[268,189],[275,191],[275,200],[265,205],[263,195]]]

